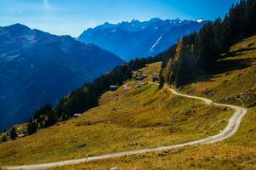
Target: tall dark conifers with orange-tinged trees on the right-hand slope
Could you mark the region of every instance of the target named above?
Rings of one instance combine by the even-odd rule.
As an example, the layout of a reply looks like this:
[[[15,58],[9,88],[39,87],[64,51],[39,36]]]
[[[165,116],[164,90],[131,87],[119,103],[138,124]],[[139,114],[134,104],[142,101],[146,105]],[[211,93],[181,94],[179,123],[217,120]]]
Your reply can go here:
[[[175,54],[162,63],[165,81],[182,86],[206,77],[230,45],[256,33],[256,1],[233,5],[225,19],[209,22],[201,31],[179,40]]]

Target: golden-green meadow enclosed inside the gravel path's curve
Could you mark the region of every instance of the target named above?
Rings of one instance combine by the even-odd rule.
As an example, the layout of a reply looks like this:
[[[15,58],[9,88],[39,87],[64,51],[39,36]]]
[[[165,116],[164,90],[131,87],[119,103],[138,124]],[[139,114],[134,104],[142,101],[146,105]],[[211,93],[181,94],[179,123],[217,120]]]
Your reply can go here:
[[[151,80],[161,63],[143,68]],[[0,165],[60,161],[177,144],[219,133],[231,111],[174,96],[168,89],[125,82],[81,117],[0,144]]]

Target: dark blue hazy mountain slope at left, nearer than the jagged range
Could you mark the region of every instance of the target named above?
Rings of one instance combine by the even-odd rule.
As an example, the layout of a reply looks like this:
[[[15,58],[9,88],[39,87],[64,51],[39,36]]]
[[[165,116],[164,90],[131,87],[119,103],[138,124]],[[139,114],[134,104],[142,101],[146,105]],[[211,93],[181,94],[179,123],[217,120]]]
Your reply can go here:
[[[122,63],[117,55],[69,36],[20,24],[0,27],[0,129],[27,121],[38,106],[55,104]]]

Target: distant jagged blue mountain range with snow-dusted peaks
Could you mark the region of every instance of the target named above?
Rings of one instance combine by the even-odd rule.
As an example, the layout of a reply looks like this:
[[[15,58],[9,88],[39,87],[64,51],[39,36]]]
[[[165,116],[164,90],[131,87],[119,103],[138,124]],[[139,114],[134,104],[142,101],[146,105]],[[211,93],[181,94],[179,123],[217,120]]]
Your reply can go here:
[[[78,40],[94,43],[114,54],[129,60],[158,54],[174,45],[177,40],[192,32],[199,31],[208,21],[161,20],[154,18],[140,22],[122,22],[89,28]]]

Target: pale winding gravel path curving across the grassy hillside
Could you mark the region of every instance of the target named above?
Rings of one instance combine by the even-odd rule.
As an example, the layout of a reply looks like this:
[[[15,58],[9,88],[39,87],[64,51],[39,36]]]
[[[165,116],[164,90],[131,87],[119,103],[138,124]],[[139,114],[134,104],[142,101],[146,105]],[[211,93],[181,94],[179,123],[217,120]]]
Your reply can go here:
[[[151,82],[151,83],[158,85],[157,83],[153,83],[153,82]],[[165,88],[168,88],[168,87],[165,87]],[[228,139],[232,135],[234,135],[236,133],[238,127],[240,126],[240,123],[242,122],[243,116],[245,116],[247,114],[247,109],[236,106],[236,105],[225,105],[225,104],[213,103],[213,101],[210,99],[187,95],[187,94],[179,94],[177,91],[175,91],[172,88],[168,88],[168,89],[175,95],[179,95],[179,96],[182,96],[185,98],[200,99],[200,100],[204,101],[206,105],[218,105],[218,106],[228,107],[228,108],[232,109],[234,111],[234,113],[232,116],[230,116],[229,122],[228,122],[227,126],[225,127],[225,129],[223,129],[223,131],[221,131],[220,133],[218,133],[214,136],[210,136],[206,139],[198,139],[198,140],[185,142],[182,144],[159,146],[156,148],[149,148],[149,149],[144,149],[144,150],[131,150],[131,151],[114,152],[114,153],[110,153],[110,154],[104,154],[101,156],[89,156],[89,157],[82,158],[82,159],[74,159],[74,160],[67,160],[67,161],[54,161],[54,162],[49,162],[49,163],[14,166],[14,167],[4,167],[4,168],[6,168],[6,169],[26,169],[26,170],[47,169],[49,167],[60,167],[60,166],[78,164],[78,163],[83,163],[83,162],[88,162],[88,161],[98,161],[98,160],[110,159],[110,158],[120,157],[120,156],[142,154],[142,153],[146,153],[146,152],[172,150],[172,149],[181,148],[181,147],[184,147],[187,145],[211,144],[214,142],[219,142],[221,140]]]

